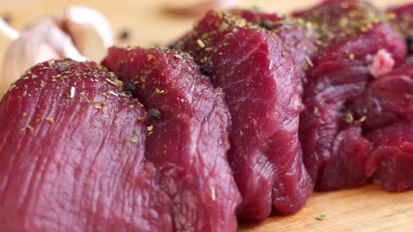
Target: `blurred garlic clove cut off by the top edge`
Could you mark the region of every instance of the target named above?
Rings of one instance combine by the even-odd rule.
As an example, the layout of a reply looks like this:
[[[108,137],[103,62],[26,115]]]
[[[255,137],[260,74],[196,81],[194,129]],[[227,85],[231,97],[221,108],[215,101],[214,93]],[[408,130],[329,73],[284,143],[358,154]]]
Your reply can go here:
[[[239,0],[166,0],[165,7],[172,13],[189,16],[202,16],[208,10],[226,10],[236,8]]]

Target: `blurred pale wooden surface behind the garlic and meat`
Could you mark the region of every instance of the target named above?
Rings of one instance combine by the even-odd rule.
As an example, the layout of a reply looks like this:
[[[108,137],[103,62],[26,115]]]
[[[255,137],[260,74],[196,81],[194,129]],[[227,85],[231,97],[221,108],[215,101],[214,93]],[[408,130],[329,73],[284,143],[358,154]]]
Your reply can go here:
[[[202,15],[188,16],[167,10],[173,1],[196,0],[0,0],[0,17],[15,29],[21,30],[33,24],[44,15],[59,15],[68,5],[84,5],[99,10],[111,22],[117,45],[165,45],[188,31],[197,18]],[[372,0],[384,8],[398,5],[409,0]],[[410,0],[413,1],[413,0]],[[274,13],[288,13],[290,10],[305,8],[316,0],[239,0],[240,7],[258,7]],[[0,34],[0,64],[10,39]]]

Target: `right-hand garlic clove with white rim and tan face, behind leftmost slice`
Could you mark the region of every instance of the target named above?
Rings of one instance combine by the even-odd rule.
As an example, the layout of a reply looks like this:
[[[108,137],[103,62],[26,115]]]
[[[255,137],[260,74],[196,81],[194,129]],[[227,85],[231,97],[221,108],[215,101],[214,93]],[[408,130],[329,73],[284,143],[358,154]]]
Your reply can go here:
[[[92,60],[102,60],[113,45],[111,24],[92,8],[69,6],[62,16],[62,27],[79,52]]]

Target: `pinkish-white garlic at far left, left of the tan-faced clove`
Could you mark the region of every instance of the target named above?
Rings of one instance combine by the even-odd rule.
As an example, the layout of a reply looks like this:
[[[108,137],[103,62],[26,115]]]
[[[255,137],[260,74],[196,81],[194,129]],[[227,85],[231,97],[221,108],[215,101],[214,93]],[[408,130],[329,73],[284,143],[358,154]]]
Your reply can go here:
[[[48,59],[64,57],[76,61],[86,60],[57,21],[45,17],[33,27],[22,31],[20,37],[8,48],[0,73],[0,96],[6,93],[10,84],[18,80],[27,68]]]

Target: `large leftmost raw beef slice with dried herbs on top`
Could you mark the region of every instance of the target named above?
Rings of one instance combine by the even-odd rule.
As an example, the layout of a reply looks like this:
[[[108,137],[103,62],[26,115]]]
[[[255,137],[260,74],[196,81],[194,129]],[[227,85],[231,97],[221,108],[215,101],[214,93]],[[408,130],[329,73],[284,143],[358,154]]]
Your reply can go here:
[[[141,104],[94,62],[29,69],[0,103],[0,231],[172,231]]]

